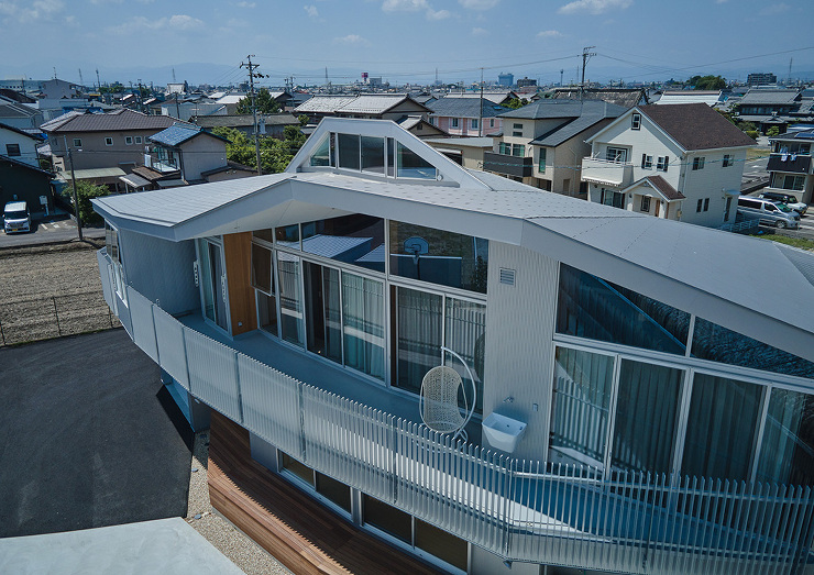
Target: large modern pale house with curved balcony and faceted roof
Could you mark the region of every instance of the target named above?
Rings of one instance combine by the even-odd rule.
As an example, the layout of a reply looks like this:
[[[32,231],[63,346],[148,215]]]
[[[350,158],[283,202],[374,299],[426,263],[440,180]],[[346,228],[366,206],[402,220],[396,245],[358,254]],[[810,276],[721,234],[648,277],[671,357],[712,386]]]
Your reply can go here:
[[[244,509],[240,457],[449,573],[805,568],[814,314],[754,278],[805,301],[811,255],[530,191],[327,119],[284,174],[94,200],[105,297],[193,425],[244,430]],[[441,363],[466,442],[421,424]]]

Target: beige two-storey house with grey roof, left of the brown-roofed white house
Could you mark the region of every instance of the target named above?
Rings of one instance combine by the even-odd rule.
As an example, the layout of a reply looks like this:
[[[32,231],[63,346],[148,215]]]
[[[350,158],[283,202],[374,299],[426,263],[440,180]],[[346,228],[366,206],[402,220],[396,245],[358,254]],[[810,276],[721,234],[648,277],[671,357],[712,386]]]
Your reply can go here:
[[[529,186],[583,199],[582,158],[585,141],[625,108],[600,100],[546,98],[501,114],[503,135],[484,156],[483,169]]]

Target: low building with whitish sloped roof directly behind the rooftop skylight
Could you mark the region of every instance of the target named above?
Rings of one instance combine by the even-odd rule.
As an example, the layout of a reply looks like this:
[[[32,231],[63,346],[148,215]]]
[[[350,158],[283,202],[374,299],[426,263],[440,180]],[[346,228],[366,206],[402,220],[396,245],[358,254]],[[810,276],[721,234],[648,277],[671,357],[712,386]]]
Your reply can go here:
[[[406,93],[363,93],[360,96],[315,96],[294,109],[294,115],[305,114],[309,123],[322,118],[366,118],[398,121],[405,115],[426,117],[429,108]]]

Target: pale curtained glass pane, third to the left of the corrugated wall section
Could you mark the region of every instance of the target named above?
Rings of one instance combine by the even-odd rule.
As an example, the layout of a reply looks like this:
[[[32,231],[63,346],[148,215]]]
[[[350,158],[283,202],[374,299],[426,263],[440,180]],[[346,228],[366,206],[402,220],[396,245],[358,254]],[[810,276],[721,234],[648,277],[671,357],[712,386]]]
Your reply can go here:
[[[384,285],[342,273],[345,365],[384,380]]]

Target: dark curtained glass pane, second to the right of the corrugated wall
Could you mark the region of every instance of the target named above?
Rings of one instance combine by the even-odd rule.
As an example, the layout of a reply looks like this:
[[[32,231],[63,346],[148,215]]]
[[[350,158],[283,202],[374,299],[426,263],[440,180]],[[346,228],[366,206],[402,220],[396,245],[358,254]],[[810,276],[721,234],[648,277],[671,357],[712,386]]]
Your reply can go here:
[[[681,369],[622,361],[613,467],[670,473],[683,376]]]

